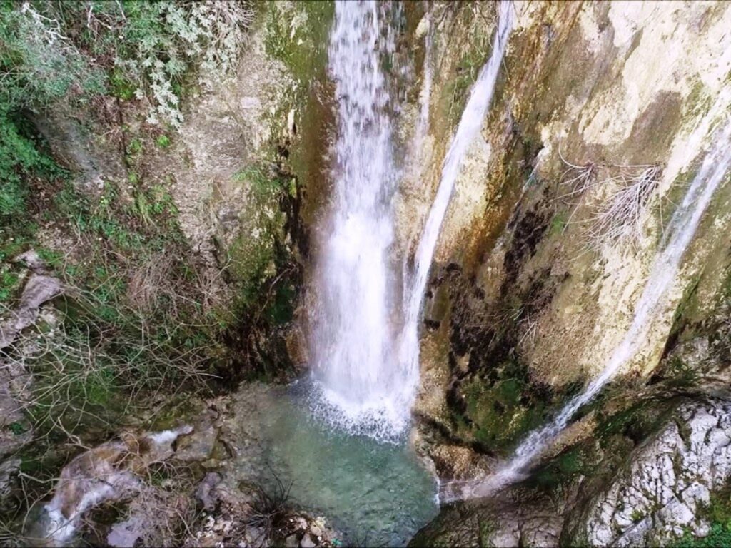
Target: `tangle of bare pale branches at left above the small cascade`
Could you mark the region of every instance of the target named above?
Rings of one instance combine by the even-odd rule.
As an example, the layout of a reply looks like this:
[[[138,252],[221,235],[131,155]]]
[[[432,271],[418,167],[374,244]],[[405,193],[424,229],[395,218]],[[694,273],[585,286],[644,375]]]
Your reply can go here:
[[[67,300],[76,314],[105,305],[96,294],[78,290]],[[154,332],[143,312],[117,303],[109,321],[91,314],[76,324],[37,321],[6,349],[4,362],[30,373],[15,397],[35,427],[73,433],[88,419],[106,422],[99,411],[105,411],[111,392],[121,397],[119,412],[124,413],[141,401],[153,402],[159,392],[174,394],[210,378],[206,369],[214,343],[178,346],[172,331],[180,327]]]

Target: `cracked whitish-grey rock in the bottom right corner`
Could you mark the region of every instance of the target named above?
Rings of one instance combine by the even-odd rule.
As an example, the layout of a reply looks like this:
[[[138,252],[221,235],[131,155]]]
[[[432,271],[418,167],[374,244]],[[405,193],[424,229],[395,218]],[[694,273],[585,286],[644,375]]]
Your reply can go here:
[[[731,402],[686,404],[594,503],[583,534],[617,547],[667,544],[686,529],[704,536],[699,509],[730,475]]]

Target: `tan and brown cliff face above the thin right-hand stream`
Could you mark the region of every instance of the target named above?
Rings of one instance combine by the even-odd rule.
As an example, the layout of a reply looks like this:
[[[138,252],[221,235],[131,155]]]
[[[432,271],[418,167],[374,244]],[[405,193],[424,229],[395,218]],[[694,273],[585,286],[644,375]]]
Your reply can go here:
[[[489,48],[479,46],[494,30],[492,4],[442,8],[432,14],[440,78],[431,89],[430,153],[418,188],[401,192],[405,248],[423,226],[423,197],[436,189],[461,114],[455,90],[469,89],[469,67],[484,62]],[[618,346],[667,221],[659,208],[682,195],[731,102],[723,84],[731,69],[731,39],[721,30],[731,22],[727,4],[518,3],[515,10],[482,138],[440,233],[416,404],[452,440],[497,454],[545,422]],[[592,243],[591,219],[619,188],[618,170],[640,165],[659,172],[637,239]],[[596,183],[586,191],[573,186],[583,168]],[[728,194],[719,190],[643,350],[621,373],[646,378],[656,368],[694,276],[704,305],[718,295]],[[713,266],[700,273],[704,262]]]

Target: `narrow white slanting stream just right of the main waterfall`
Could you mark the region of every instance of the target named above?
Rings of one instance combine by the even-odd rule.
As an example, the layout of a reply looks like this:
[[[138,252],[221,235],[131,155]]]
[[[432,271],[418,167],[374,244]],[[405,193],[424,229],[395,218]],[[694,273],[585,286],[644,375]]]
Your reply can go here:
[[[480,75],[477,76],[477,81],[472,86],[462,118],[457,126],[457,132],[450,143],[442,166],[439,188],[414,256],[414,268],[412,274],[407,277],[409,279],[404,283],[408,292],[405,293],[404,298],[404,331],[401,334],[401,345],[399,346],[399,362],[402,367],[406,368],[406,378],[409,380],[407,387],[409,391],[405,393],[408,408],[412,405],[419,381],[419,317],[439,230],[442,228],[442,221],[447,213],[447,206],[450,203],[462,160],[469,145],[480,132],[493,98],[500,64],[505,53],[507,39],[510,36],[511,23],[510,1],[501,1],[498,28],[493,39],[491,56],[480,70]]]

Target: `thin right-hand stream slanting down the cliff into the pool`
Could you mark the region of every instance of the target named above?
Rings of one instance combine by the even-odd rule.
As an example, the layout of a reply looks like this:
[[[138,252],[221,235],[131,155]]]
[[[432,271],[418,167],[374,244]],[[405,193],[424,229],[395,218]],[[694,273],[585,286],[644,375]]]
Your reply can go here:
[[[635,356],[647,338],[652,315],[665,304],[663,297],[678,273],[683,254],[693,239],[713,193],[724,180],[724,175],[730,166],[731,123],[727,123],[720,136],[713,142],[711,151],[706,154],[700,170],[686,191],[683,202],[671,218],[663,241],[664,248],[652,265],[645,289],[637,302],[632,324],[602,373],[591,381],[583,392],[569,400],[553,422],[529,434],[515,450],[512,459],[495,474],[482,482],[444,484],[442,502],[489,496],[507,484],[523,479],[524,469],[534,457],[537,457],[556,435],[564,430],[576,411],[591,401],[622,365]]]

